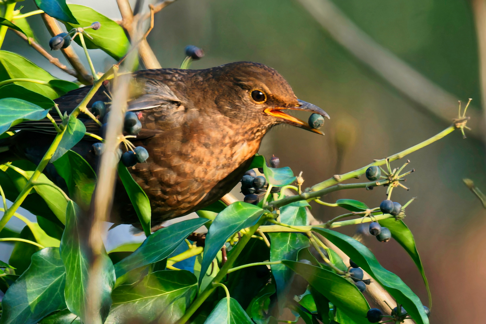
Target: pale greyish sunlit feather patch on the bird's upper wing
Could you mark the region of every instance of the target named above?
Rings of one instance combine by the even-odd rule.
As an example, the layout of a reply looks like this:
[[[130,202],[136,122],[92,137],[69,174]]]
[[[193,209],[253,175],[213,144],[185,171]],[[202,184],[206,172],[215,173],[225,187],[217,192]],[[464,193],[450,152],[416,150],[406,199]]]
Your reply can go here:
[[[179,105],[180,100],[163,82],[156,79],[144,80],[143,94],[128,102],[129,111],[156,108],[159,106]]]

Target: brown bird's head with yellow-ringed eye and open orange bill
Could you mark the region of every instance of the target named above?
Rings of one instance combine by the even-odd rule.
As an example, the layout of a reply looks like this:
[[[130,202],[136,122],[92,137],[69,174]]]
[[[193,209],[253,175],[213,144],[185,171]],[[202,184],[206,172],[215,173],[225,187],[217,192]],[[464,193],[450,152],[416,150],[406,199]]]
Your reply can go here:
[[[321,108],[297,99],[291,86],[275,69],[260,63],[236,62],[209,70],[218,84],[215,103],[230,120],[265,129],[286,123],[324,135],[307,122],[284,112],[285,109],[303,110],[329,119]]]

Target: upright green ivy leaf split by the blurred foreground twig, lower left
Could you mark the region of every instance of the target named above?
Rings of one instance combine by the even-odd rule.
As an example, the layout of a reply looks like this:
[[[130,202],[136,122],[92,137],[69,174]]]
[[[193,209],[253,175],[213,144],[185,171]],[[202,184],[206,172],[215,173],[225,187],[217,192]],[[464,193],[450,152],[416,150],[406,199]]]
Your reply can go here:
[[[61,239],[61,258],[66,268],[66,288],[64,296],[69,310],[83,320],[87,302],[87,283],[89,260],[87,258],[88,238],[83,229],[88,226],[87,217],[72,200],[66,210],[66,228]],[[101,256],[103,276],[100,279],[98,293],[99,309],[102,321],[108,315],[111,306],[111,292],[115,284],[115,271],[106,252]]]

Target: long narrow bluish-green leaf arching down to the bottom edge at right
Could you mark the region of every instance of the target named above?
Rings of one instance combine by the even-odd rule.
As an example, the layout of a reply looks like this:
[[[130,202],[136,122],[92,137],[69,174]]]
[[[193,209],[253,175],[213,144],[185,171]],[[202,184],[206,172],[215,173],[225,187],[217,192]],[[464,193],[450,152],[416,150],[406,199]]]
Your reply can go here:
[[[383,268],[366,246],[347,235],[329,229],[313,227],[313,230],[324,236],[326,239],[329,239],[363,268],[364,271],[369,273],[373,279],[395,297],[398,304],[403,305],[403,308],[407,310],[417,324],[429,324],[429,319],[425,314],[422,302],[420,302],[417,295],[405,285],[399,276]],[[348,312],[346,313],[349,315]]]

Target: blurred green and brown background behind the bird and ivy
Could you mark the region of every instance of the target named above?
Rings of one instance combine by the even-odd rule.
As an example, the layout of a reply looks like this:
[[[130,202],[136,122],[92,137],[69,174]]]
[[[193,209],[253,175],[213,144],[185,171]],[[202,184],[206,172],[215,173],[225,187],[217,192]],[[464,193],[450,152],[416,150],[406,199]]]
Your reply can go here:
[[[413,68],[450,98],[463,102],[473,99],[469,108],[475,119],[471,120],[473,133],[463,139],[459,132],[454,132],[407,156],[411,169],[415,168],[416,172],[407,176],[405,185],[410,190],[395,189],[393,200],[404,204],[418,197],[407,208],[404,222],[415,235],[431,284],[434,300],[431,323],[483,323],[486,211],[462,182],[463,178],[471,178],[486,190],[480,54],[473,3],[466,0],[302,2],[334,3],[340,16],[333,17],[354,23],[356,30],[367,35],[368,41],[383,53],[394,57],[395,63]],[[21,3],[26,7],[22,12],[35,10],[32,0]],[[68,3],[93,7],[112,19],[121,18],[115,0]],[[47,48],[50,35],[40,17],[28,20],[39,43]],[[335,25],[337,22],[329,24],[343,30]],[[345,33],[340,37],[346,36]],[[299,99],[326,110],[331,116],[325,124],[326,136],[277,127],[264,138],[260,148],[261,154],[267,157],[275,154],[282,166],[291,167],[296,174],[303,171],[304,186],[310,187],[333,174],[352,171],[373,159],[406,149],[440,132],[457,117],[455,101],[446,100],[443,104],[436,94],[422,93],[433,103],[440,103],[442,110],[437,113],[437,109],[431,108],[434,104],[424,104],[407,90],[408,86],[416,85],[415,79],[402,75],[400,70],[392,70],[393,65],[383,67],[390,72],[388,77],[383,77],[383,73],[343,46],[329,26],[323,27],[298,0],[178,0],[156,14],[155,28],[148,39],[162,67],[179,67],[188,44],[199,46],[206,53],[192,68],[235,61],[261,62],[276,68]],[[83,58],[81,49],[74,43],[73,46]],[[18,52],[53,75],[72,80],[10,31],[2,50]],[[360,51],[366,53],[366,49]],[[100,50],[90,52],[97,70],[115,63]],[[52,51],[52,55],[67,64],[58,51]],[[397,86],[390,78],[407,86]],[[419,90],[427,91],[426,88]],[[403,162],[394,162],[393,166]],[[385,188],[336,192],[323,200],[332,203],[340,198],[361,200],[375,207],[385,198]],[[344,212],[312,203],[312,214],[320,221]],[[22,224],[12,221],[9,227],[19,229]],[[352,235],[355,230],[342,231]],[[110,232],[107,245],[143,239],[128,238],[129,235],[127,228]],[[397,273],[426,304],[421,277],[410,257],[394,240],[380,243],[373,237],[365,237],[364,243],[385,268]],[[10,251],[11,246],[2,243],[0,259],[7,260]]]

